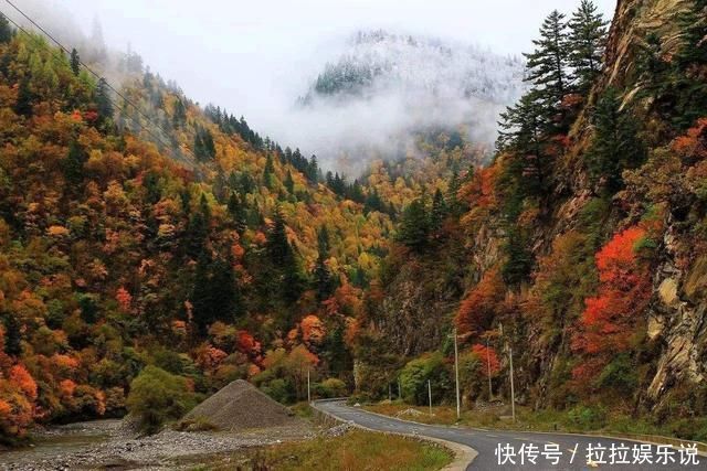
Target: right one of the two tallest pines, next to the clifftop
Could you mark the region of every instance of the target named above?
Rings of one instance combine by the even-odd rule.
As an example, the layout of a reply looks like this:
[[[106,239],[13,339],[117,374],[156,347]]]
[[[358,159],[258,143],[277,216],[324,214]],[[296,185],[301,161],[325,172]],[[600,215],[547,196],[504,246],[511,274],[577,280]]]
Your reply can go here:
[[[570,65],[574,68],[577,88],[588,94],[601,73],[608,22],[591,0],[582,0],[568,24]]]

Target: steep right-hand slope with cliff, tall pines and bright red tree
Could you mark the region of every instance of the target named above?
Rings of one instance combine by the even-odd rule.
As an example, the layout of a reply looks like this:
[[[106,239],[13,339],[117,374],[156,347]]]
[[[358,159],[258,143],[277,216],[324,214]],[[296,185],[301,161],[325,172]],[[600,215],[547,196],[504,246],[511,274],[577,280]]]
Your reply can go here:
[[[442,217],[432,199],[402,216],[359,335],[365,392],[401,378],[426,400],[431,378],[453,400],[454,327],[466,404],[488,371],[508,396],[511,346],[520,404],[706,437],[706,7],[622,0],[609,32],[587,1],[547,18],[494,163]]]

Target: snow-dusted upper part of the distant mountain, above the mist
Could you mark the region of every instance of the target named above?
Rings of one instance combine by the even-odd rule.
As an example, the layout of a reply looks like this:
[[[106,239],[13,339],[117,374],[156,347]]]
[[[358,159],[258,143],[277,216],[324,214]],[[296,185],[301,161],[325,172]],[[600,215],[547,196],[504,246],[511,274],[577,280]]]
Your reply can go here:
[[[326,64],[303,101],[400,93],[409,105],[421,97],[439,99],[437,106],[462,98],[508,105],[519,97],[521,82],[517,57],[431,38],[359,31],[338,61]]]

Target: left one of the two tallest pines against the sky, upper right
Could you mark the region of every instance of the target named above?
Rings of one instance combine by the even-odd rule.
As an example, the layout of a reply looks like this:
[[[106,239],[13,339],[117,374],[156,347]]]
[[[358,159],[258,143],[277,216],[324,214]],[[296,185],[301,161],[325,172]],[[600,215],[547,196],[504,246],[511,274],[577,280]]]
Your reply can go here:
[[[526,81],[532,83],[544,106],[544,122],[550,131],[563,131],[567,126],[560,104],[570,92],[568,77],[568,38],[564,15],[555,10],[540,28],[540,39],[532,42],[536,50],[524,54],[527,58]]]

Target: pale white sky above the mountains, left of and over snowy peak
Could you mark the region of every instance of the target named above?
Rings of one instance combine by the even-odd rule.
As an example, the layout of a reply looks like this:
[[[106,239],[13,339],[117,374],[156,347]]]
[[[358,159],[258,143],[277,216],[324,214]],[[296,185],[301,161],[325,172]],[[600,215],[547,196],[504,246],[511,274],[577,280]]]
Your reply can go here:
[[[613,17],[616,0],[593,1],[608,19]],[[339,56],[354,32],[380,28],[518,56],[532,50],[531,41],[549,12],[558,9],[569,15],[580,0],[14,2],[50,32],[77,29],[91,35],[97,19],[112,50],[127,51],[129,45],[152,72],[175,79],[189,98],[245,116],[262,135],[318,153],[323,140],[351,140],[356,135],[362,139],[379,132],[386,113],[387,129],[407,118],[400,106],[382,110],[367,106],[358,114],[335,109],[337,128],[331,126],[331,109],[318,116],[291,109],[326,62]],[[3,0],[0,11],[18,18]],[[494,115],[486,120],[495,126]],[[369,132],[361,131],[361,124],[369,125]]]

